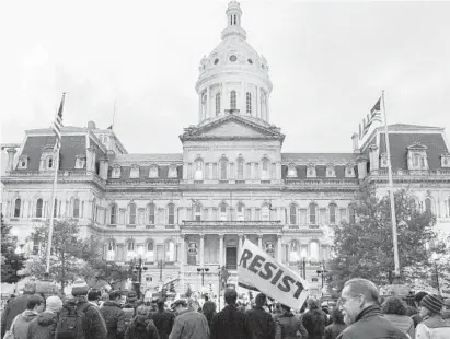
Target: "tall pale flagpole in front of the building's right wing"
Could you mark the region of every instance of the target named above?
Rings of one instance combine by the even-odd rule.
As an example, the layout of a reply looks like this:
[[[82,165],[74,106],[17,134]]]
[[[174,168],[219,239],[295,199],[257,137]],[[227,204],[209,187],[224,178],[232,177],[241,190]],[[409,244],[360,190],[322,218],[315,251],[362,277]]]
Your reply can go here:
[[[394,265],[395,265],[394,283],[400,283],[401,276],[400,276],[400,259],[399,259],[399,242],[397,242],[397,233],[396,233],[394,180],[392,178],[391,147],[389,143],[388,119],[386,119],[385,105],[384,105],[384,91],[381,94],[381,98],[383,102],[384,133],[385,133],[385,145],[386,145],[386,153],[388,153],[389,197],[391,200],[392,241],[393,241],[393,246],[394,246]]]

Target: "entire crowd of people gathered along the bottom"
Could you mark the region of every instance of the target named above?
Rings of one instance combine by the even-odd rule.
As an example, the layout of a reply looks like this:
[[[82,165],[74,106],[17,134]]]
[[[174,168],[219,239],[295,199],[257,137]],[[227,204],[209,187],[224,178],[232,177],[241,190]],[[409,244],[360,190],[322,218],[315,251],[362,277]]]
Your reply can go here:
[[[226,307],[203,306],[194,299],[165,299],[154,304],[135,300],[122,305],[120,291],[99,293],[77,285],[67,297],[44,299],[35,285],[11,300],[2,313],[5,339],[350,339],[450,338],[450,303],[419,292],[415,306],[397,296],[381,300],[366,279],[347,281],[335,305],[321,306],[309,297],[301,309],[267,304],[256,295],[253,305],[238,304],[233,289],[224,291]],[[270,307],[269,307],[270,306]]]

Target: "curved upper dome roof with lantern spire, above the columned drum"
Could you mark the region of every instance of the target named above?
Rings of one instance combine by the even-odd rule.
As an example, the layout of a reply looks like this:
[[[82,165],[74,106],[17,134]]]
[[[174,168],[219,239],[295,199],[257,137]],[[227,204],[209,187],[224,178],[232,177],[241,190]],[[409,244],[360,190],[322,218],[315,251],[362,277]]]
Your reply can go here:
[[[263,78],[272,90],[267,60],[246,42],[246,32],[241,27],[241,15],[240,4],[231,1],[227,9],[228,26],[222,31],[222,40],[201,59],[197,84],[211,75],[238,71]]]

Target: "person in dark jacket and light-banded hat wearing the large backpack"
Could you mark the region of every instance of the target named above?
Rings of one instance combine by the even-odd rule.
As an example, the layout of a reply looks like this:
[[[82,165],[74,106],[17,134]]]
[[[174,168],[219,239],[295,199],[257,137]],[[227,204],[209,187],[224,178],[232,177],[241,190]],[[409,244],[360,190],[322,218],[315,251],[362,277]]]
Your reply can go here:
[[[85,281],[76,281],[72,287],[73,299],[68,300],[68,303],[74,302],[77,311],[83,312],[85,315],[85,339],[106,339],[107,329],[103,316],[99,308],[88,302],[89,287]]]

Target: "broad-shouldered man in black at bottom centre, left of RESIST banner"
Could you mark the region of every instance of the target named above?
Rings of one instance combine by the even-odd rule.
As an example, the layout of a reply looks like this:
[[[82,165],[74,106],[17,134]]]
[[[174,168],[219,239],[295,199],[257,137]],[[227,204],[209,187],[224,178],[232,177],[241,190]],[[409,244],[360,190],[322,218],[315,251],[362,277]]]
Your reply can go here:
[[[252,329],[245,313],[239,312],[235,302],[238,293],[227,289],[224,301],[227,306],[212,317],[212,331],[210,339],[251,339]]]

